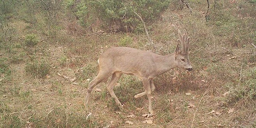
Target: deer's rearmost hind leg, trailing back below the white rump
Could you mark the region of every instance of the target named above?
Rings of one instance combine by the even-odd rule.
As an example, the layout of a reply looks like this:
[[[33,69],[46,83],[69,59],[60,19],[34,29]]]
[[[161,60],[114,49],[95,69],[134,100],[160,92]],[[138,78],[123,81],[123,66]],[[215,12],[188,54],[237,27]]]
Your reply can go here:
[[[91,95],[91,91],[93,90],[93,88],[100,83],[102,80],[104,80],[105,78],[109,77],[111,73],[108,72],[100,72],[90,83],[89,83],[89,87],[87,89],[87,94],[85,97],[85,102],[84,102],[84,106],[87,107],[88,106],[88,101],[89,101],[89,97]]]

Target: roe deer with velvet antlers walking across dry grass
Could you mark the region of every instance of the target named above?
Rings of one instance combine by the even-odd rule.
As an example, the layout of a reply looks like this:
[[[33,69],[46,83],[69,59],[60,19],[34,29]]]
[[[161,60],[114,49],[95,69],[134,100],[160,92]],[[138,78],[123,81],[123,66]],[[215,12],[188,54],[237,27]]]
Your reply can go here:
[[[129,47],[112,47],[103,52],[98,59],[100,71],[96,78],[89,83],[84,105],[88,106],[88,100],[93,88],[103,79],[112,75],[107,84],[107,90],[119,108],[122,109],[123,105],[117,99],[113,89],[122,74],[131,74],[142,80],[146,90],[135,95],[134,98],[147,94],[149,112],[154,115],[151,102],[151,92],[155,89],[153,79],[175,67],[184,68],[188,71],[192,70],[189,62],[189,37],[186,32],[182,35],[178,30],[178,33],[181,46],[178,44],[173,54],[157,55],[152,52]]]

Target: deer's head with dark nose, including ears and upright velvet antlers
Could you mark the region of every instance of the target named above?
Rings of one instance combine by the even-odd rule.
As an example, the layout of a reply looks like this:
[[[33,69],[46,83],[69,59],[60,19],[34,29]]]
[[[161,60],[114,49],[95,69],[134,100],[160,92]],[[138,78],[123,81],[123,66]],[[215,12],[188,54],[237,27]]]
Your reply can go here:
[[[193,68],[189,62],[189,38],[187,33],[181,34],[181,31],[178,30],[180,39],[178,40],[180,44],[177,45],[175,50],[175,61],[177,62],[178,67],[182,67],[188,71],[191,71]]]

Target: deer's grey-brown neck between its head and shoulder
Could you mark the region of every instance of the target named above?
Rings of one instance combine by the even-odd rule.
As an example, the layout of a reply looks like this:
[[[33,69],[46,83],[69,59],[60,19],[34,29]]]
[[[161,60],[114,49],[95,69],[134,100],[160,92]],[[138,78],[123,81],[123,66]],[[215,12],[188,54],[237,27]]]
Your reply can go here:
[[[175,55],[169,54],[169,55],[158,55],[156,57],[156,66],[158,69],[158,75],[163,74],[170,69],[173,69],[176,67],[175,62]]]

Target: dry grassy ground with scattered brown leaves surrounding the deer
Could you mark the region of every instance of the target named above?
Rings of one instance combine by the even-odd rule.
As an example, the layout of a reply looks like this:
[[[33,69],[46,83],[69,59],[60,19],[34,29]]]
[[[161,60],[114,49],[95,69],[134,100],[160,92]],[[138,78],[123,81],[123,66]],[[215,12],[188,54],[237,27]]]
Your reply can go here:
[[[125,104],[123,111],[108,94],[107,80],[96,86],[89,108],[83,106],[87,79],[92,80],[98,72],[98,56],[119,45],[150,50],[144,34],[82,36],[70,33],[62,24],[62,29],[51,36],[13,19],[9,24],[13,31],[7,34],[16,36],[0,44],[0,127],[256,127],[256,49],[251,46],[256,42],[256,3],[219,0],[215,10],[211,4],[206,22],[206,2],[190,2],[192,14],[186,8],[177,9],[178,3],[174,2],[150,30],[156,53],[166,55],[174,51],[177,28],[186,29],[191,36],[194,70],[188,73],[173,69],[154,80],[156,116],[149,118],[142,117],[148,113],[147,98],[133,99],[144,91],[134,76],[123,75],[115,88],[117,97]],[[40,40],[32,48],[24,42],[24,36],[30,32]],[[41,59],[50,66],[48,75],[38,78],[26,73],[28,62]],[[75,81],[70,81],[73,78]],[[135,117],[127,118],[132,114]],[[153,124],[143,123],[145,120],[153,120]]]

